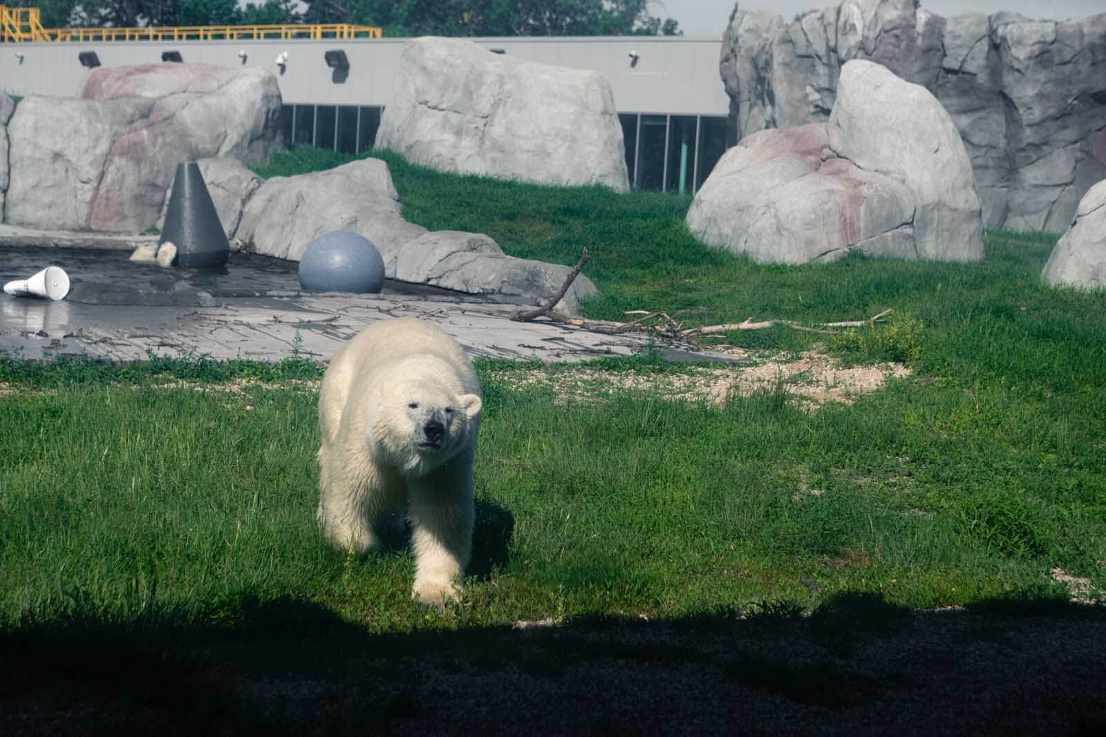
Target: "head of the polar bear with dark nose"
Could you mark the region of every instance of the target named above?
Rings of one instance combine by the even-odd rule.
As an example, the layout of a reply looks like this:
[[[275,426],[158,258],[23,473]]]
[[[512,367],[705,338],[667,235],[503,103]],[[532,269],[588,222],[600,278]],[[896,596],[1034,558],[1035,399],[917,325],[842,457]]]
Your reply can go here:
[[[427,473],[457,455],[477,432],[479,394],[456,393],[426,377],[389,382],[378,394],[377,439],[407,473]]]

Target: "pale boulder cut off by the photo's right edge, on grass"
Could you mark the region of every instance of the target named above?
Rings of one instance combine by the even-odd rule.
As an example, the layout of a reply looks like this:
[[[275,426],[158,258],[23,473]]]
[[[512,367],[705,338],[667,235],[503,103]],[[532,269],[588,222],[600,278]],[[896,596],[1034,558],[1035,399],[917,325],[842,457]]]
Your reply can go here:
[[[1075,220],[1053,249],[1041,278],[1052,286],[1106,289],[1106,179],[1079,200]]]

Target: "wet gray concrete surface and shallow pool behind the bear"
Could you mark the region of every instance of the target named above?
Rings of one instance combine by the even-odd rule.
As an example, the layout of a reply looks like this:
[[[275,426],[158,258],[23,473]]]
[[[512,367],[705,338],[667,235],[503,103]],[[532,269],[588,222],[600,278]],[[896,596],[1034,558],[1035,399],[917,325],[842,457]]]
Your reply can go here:
[[[55,265],[69,273],[71,291],[59,302],[0,294],[0,351],[24,359],[128,361],[156,354],[276,361],[299,351],[327,361],[371,323],[407,316],[440,324],[472,356],[577,361],[629,355],[648,340],[515,323],[509,316],[518,305],[403,283],[389,282],[378,295],[304,293],[295,263],[254,254],[231,254],[216,272],[161,269],[128,261],[139,239],[40,235],[38,243],[62,248],[29,245],[33,239],[0,231],[0,282]],[[672,359],[732,360],[690,346],[658,347]]]

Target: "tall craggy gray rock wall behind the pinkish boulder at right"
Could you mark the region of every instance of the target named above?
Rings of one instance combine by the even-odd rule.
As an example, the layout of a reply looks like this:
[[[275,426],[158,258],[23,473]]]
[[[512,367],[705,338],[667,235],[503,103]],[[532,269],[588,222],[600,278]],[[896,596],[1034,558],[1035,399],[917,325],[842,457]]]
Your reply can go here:
[[[1063,230],[1106,177],[1106,13],[945,19],[917,0],[846,0],[789,23],[735,7],[720,73],[739,139],[827,120],[851,60],[936,95],[963,139],[987,225]]]

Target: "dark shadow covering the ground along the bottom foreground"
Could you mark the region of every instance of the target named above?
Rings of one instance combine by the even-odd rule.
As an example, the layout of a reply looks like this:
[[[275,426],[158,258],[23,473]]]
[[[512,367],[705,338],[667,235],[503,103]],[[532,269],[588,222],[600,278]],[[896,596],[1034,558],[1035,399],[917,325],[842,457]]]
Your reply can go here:
[[[371,635],[244,599],[231,627],[27,623],[0,634],[10,734],[849,733],[1106,729],[1106,611],[915,611],[846,593],[671,621]]]

